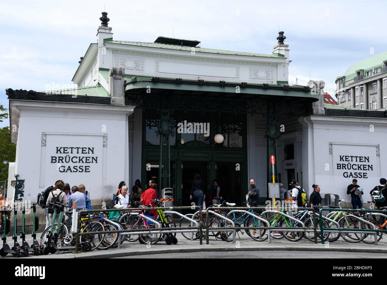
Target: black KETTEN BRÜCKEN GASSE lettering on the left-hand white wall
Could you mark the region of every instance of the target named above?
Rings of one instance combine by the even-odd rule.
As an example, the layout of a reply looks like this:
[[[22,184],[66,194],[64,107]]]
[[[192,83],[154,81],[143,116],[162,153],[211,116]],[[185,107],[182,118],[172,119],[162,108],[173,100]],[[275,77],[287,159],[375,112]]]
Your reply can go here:
[[[90,172],[92,164],[98,163],[98,156],[94,155],[94,147],[56,147],[50,161],[58,166],[59,172],[82,173]]]

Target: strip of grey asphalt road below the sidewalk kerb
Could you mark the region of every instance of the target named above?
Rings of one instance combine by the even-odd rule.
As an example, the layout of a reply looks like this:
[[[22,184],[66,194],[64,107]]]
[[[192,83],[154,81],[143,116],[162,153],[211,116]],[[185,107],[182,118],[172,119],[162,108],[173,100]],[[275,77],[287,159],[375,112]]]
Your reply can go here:
[[[365,252],[316,252],[316,251],[235,251],[235,252],[189,252],[125,256],[115,258],[387,258],[382,253]]]

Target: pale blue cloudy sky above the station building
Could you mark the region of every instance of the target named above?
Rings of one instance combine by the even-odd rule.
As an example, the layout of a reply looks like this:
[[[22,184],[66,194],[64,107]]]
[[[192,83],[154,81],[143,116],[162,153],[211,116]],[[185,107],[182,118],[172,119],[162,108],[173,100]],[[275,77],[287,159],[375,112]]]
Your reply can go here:
[[[201,41],[201,47],[271,54],[278,31],[289,45],[289,84],[335,79],[361,59],[384,52],[385,1],[2,1],[0,104],[6,88],[43,91],[71,84],[78,61],[96,42],[99,17],[115,40],[158,36]],[[335,98],[335,97],[334,97]],[[9,125],[5,119],[0,127]]]

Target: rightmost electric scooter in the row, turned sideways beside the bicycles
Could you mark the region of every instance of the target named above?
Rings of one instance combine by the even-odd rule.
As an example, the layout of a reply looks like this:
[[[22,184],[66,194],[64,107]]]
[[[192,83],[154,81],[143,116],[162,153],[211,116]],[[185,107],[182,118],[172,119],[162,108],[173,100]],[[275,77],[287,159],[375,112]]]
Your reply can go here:
[[[57,245],[60,226],[62,225],[62,218],[63,218],[63,212],[64,212],[65,205],[62,203],[59,203],[59,202],[55,202],[55,203],[48,202],[48,204],[54,206],[54,213],[53,213],[53,217],[52,217],[51,228],[47,233],[47,241],[45,242],[45,245],[43,247],[43,254],[44,255],[47,255],[48,253],[54,254],[58,250],[59,251],[60,250],[74,251],[75,246],[65,246],[65,245],[61,244],[61,246],[58,247],[58,245]],[[55,218],[57,216],[57,213],[59,213],[58,228],[57,228],[57,231],[55,232],[55,234],[53,234]],[[85,251],[91,250],[92,247],[91,247],[90,242],[86,241],[86,242],[80,242],[79,248],[82,252],[85,252]]]

